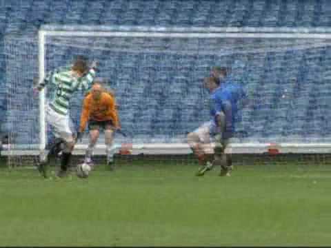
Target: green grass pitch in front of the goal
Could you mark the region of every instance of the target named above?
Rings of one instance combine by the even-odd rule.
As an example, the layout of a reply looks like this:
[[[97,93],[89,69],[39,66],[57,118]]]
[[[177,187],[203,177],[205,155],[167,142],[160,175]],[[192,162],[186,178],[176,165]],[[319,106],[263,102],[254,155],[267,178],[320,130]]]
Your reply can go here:
[[[328,165],[99,166],[88,179],[0,169],[0,246],[330,245]]]

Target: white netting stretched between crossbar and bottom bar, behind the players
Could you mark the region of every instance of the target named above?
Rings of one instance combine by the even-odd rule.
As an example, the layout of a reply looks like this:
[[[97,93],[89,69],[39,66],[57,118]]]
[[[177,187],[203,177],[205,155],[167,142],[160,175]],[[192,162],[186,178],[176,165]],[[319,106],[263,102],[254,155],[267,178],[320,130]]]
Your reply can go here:
[[[48,37],[46,51],[47,68],[65,63],[70,53],[99,59],[101,76],[117,91],[124,129],[145,136],[141,142],[181,143],[182,134],[208,120],[201,82],[214,65],[231,68],[233,81],[242,83],[254,102],[238,116],[237,138],[330,141],[325,122],[329,39],[72,34]]]

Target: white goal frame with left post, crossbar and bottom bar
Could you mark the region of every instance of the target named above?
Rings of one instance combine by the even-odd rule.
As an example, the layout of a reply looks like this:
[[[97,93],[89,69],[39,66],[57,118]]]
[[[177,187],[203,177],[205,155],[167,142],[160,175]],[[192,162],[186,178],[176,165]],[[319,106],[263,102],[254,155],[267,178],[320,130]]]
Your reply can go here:
[[[39,30],[39,77],[43,79],[48,68],[46,66],[47,37],[167,37],[167,38],[263,38],[263,39],[330,39],[329,28],[164,28],[164,27],[128,27],[128,26],[86,26],[86,25],[43,25]],[[45,120],[46,90],[39,94],[39,128],[40,143],[34,152],[43,151],[46,147],[47,132]],[[232,153],[264,153],[268,152],[272,141],[236,142],[228,147]],[[81,154],[87,145],[78,144],[74,153]],[[120,145],[117,144],[117,147]],[[330,153],[331,143],[277,143],[281,153]],[[97,145],[95,154],[103,154],[105,145]],[[189,154],[186,143],[133,143],[133,154]]]

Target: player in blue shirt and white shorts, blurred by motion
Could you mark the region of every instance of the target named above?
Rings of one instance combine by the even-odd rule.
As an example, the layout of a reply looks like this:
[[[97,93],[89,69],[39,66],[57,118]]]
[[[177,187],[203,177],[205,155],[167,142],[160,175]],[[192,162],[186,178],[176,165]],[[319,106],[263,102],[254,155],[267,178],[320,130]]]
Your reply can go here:
[[[233,83],[222,68],[218,75],[212,74],[204,81],[210,91],[211,119],[194,132],[188,134],[188,143],[202,165],[197,176],[203,176],[213,165],[221,165],[220,176],[230,176],[231,154],[225,154],[225,147],[234,132],[234,121],[240,99],[245,98],[243,87]],[[215,147],[212,147],[212,140]]]

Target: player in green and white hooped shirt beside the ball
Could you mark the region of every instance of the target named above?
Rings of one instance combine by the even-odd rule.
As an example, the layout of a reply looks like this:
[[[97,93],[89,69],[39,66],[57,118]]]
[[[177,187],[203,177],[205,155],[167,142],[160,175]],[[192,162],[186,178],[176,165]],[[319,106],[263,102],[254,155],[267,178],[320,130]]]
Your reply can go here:
[[[95,77],[97,63],[94,61],[90,67],[84,59],[77,59],[71,68],[50,72],[39,83],[37,90],[42,90],[48,83],[56,86],[54,99],[47,107],[46,121],[52,127],[54,136],[60,138],[65,146],[61,157],[59,177],[66,176],[72,149],[74,148],[74,135],[72,134],[72,121],[69,116],[69,102],[72,94],[77,90],[89,90]],[[41,161],[39,171],[47,177],[46,163],[48,157]]]

